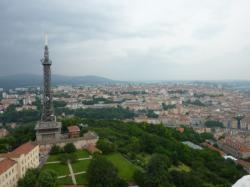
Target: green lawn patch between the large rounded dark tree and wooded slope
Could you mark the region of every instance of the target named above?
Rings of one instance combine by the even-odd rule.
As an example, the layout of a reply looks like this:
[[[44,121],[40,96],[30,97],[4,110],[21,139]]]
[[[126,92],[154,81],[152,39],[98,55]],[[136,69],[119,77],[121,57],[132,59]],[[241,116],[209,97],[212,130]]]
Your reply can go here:
[[[118,175],[126,181],[133,181],[134,172],[137,170],[136,166],[125,159],[120,153],[114,153],[105,156],[118,169]]]

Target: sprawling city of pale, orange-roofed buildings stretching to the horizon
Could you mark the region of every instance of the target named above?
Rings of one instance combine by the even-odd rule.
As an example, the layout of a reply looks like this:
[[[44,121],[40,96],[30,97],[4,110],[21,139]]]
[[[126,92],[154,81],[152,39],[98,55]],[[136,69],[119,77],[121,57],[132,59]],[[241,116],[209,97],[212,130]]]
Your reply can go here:
[[[154,126],[161,124],[180,133],[190,128],[198,134],[211,136],[199,144],[191,141],[185,144],[193,149],[208,147],[250,171],[248,93],[225,89],[219,83],[192,82],[58,85],[53,87],[52,93],[59,121],[74,117],[122,120]],[[40,87],[1,89],[1,95],[1,138],[9,136],[9,128],[40,119]],[[77,125],[77,130],[88,126],[77,120],[72,125]],[[69,130],[63,130],[64,136],[68,136]],[[94,136],[94,141],[97,137]],[[11,149],[4,141],[0,148],[1,152]]]

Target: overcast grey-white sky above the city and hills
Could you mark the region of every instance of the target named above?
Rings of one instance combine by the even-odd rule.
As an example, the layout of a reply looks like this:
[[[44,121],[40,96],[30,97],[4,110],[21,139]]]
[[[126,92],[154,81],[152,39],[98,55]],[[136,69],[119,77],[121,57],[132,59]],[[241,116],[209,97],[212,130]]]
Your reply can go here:
[[[0,75],[250,79],[249,0],[1,0]]]

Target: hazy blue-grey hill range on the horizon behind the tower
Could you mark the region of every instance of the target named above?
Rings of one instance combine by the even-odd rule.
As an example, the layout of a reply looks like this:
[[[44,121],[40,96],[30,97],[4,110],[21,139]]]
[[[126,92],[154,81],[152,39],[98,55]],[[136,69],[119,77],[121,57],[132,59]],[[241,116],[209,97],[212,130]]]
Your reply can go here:
[[[111,84],[116,81],[99,76],[63,76],[52,75],[53,85],[93,85],[93,84]],[[19,74],[0,76],[0,88],[17,88],[27,86],[41,86],[42,75]]]

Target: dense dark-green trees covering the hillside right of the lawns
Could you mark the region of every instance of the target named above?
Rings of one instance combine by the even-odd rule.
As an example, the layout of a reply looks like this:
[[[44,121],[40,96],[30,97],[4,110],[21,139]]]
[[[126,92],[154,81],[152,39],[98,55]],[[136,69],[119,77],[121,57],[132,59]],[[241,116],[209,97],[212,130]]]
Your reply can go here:
[[[214,151],[207,148],[194,150],[181,143],[189,140],[200,144],[210,137],[208,134],[199,135],[188,128],[185,128],[184,133],[179,133],[162,125],[133,122],[86,123],[89,124],[90,130],[97,132],[101,141],[112,142],[117,152],[141,168],[141,171],[136,172],[134,180],[138,184],[144,181],[140,185],[142,187],[227,187],[246,174],[240,166],[224,160]],[[154,154],[158,154],[157,157],[161,159],[157,159]],[[147,157],[151,159],[148,161]],[[166,167],[160,167],[163,161]],[[171,169],[171,166],[179,167],[183,164],[190,168],[190,171]]]

